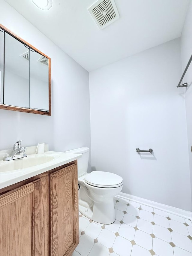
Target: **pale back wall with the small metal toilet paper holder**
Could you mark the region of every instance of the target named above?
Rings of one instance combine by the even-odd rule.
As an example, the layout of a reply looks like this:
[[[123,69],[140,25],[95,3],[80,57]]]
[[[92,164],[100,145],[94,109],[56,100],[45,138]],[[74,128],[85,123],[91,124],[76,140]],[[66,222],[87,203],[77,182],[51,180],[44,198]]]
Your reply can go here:
[[[191,210],[181,74],[179,39],[91,71],[91,163],[122,192]]]

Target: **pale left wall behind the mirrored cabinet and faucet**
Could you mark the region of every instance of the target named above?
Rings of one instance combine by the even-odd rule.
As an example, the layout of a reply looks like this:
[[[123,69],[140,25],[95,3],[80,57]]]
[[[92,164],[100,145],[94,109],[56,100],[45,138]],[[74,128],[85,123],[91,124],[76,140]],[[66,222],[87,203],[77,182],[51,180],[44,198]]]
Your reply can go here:
[[[51,58],[52,116],[0,110],[0,150],[49,143],[51,150],[90,147],[88,72],[0,0],[0,23]]]

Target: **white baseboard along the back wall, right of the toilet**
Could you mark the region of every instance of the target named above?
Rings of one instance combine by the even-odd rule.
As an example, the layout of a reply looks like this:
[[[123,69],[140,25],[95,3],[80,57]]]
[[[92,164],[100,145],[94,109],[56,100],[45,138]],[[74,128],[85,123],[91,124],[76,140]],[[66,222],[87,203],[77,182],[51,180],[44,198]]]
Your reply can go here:
[[[151,206],[153,208],[156,208],[156,209],[159,209],[159,210],[162,210],[165,212],[169,212],[169,213],[175,214],[177,216],[180,216],[180,217],[183,217],[186,219],[192,220],[192,212],[188,212],[188,211],[185,211],[185,210],[173,207],[173,206],[169,206],[169,205],[162,204],[162,203],[157,203],[157,202],[154,202],[151,200],[147,200],[147,199],[144,199],[141,197],[136,197],[136,196],[129,195],[126,193],[122,193],[122,192],[120,192],[117,196],[121,197],[121,198],[125,198],[127,200],[137,202],[137,203],[141,203],[141,204],[144,204],[147,206]]]

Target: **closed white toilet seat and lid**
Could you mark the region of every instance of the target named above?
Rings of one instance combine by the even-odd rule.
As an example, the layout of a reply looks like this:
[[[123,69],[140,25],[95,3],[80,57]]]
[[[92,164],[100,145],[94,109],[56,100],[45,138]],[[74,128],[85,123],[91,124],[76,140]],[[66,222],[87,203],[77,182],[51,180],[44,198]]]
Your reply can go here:
[[[85,183],[99,188],[117,188],[123,185],[123,179],[115,173],[93,171],[84,177]]]

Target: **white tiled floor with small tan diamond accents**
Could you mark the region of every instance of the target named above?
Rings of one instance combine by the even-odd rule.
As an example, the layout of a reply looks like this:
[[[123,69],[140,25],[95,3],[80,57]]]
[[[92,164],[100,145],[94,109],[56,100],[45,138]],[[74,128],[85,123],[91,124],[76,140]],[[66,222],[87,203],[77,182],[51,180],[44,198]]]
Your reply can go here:
[[[116,221],[103,225],[79,213],[73,256],[192,256],[190,220],[119,197]]]

